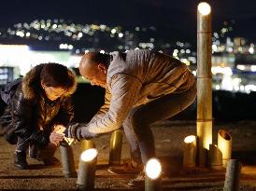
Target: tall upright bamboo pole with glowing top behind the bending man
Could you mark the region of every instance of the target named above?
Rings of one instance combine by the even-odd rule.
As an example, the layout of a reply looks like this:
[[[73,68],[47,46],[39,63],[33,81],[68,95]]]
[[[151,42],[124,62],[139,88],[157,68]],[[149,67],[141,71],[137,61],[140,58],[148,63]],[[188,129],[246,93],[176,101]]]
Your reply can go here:
[[[212,143],[211,13],[206,3],[197,9],[197,136],[198,165],[206,167]]]

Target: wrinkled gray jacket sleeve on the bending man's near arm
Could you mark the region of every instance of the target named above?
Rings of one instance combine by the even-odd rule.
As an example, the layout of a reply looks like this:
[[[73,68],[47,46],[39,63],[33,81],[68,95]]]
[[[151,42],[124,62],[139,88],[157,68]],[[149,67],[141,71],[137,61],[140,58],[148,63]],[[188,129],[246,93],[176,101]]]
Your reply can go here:
[[[132,75],[114,75],[111,81],[111,100],[107,113],[97,120],[91,120],[80,129],[81,137],[92,133],[95,135],[117,130],[137,100],[142,83]]]

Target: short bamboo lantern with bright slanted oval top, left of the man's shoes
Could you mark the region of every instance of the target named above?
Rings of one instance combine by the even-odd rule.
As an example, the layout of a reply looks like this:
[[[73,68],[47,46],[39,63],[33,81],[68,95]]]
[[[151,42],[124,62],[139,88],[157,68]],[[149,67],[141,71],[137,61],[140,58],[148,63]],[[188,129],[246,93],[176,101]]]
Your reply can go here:
[[[78,189],[93,190],[98,151],[94,148],[85,150],[79,159]]]

